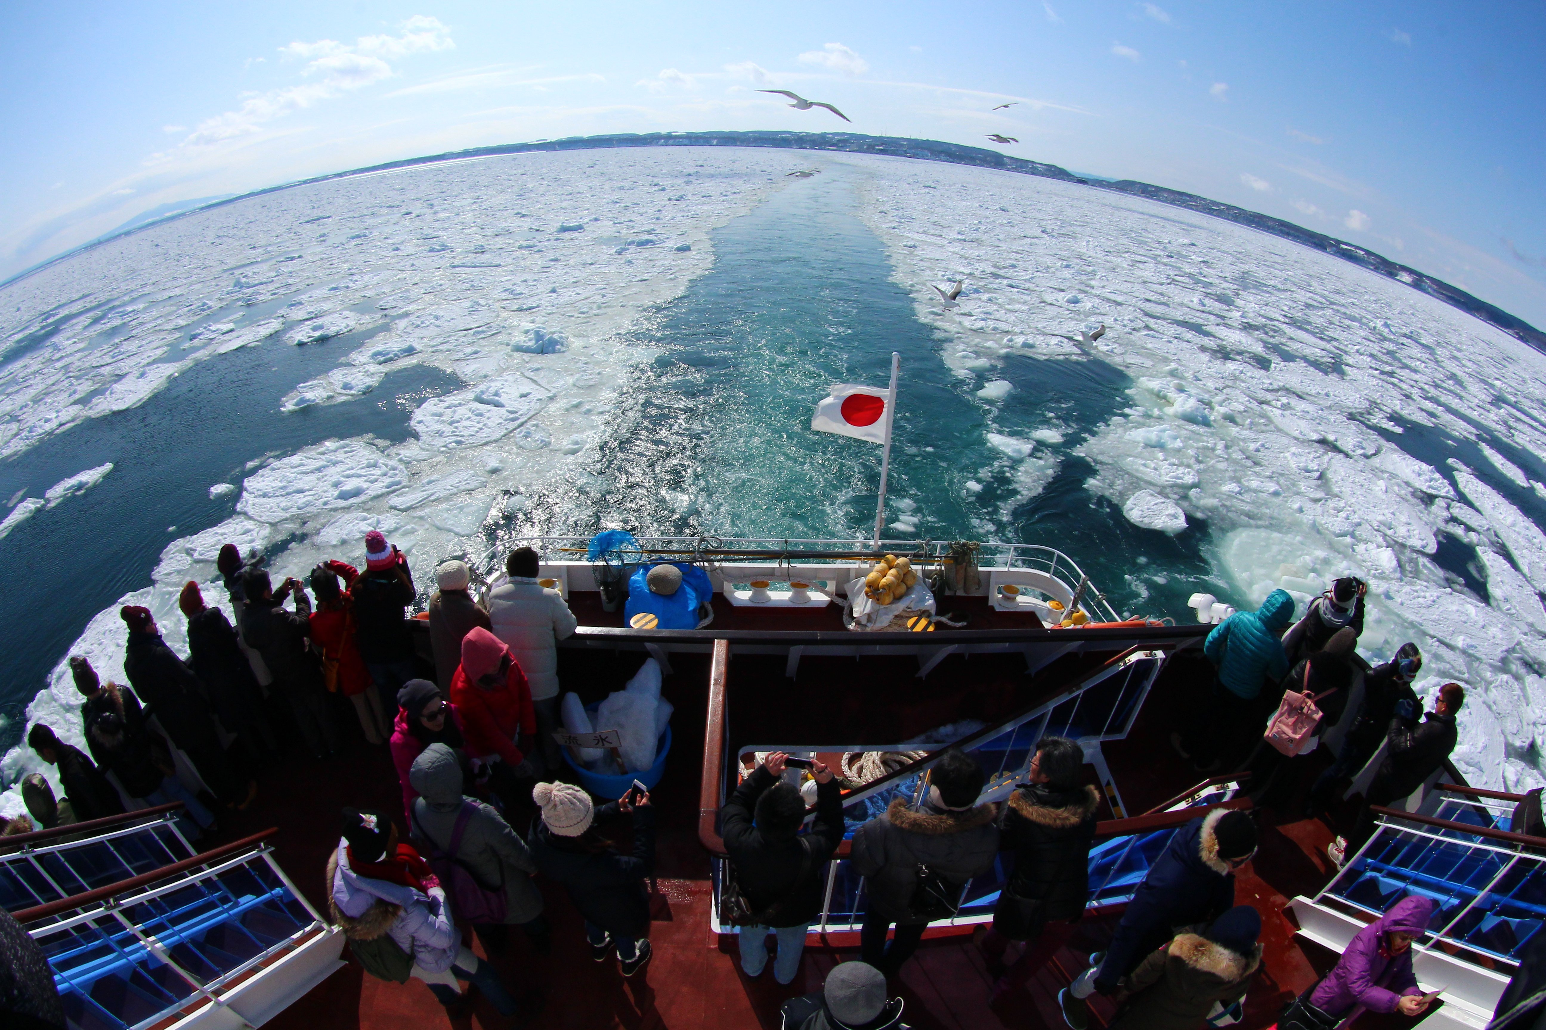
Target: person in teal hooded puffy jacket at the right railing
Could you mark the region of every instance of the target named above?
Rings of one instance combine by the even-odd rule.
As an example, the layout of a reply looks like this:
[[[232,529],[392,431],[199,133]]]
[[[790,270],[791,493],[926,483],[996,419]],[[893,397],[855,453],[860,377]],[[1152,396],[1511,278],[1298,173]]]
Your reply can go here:
[[[1203,642],[1203,653],[1218,676],[1200,710],[1192,712],[1187,730],[1172,734],[1170,743],[1181,757],[1198,769],[1211,771],[1223,764],[1224,747],[1251,740],[1246,732],[1266,713],[1258,713],[1262,684],[1288,675],[1288,653],[1283,632],[1294,621],[1294,599],[1286,590],[1274,590],[1255,612],[1235,612],[1214,627]]]

